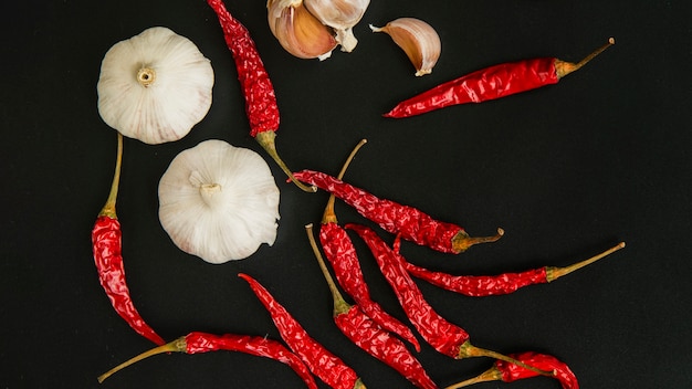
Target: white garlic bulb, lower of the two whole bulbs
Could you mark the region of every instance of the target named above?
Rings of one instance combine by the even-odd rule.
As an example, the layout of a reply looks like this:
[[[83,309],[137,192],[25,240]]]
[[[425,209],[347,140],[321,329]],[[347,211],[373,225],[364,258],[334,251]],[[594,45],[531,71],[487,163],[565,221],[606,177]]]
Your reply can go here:
[[[279,188],[256,153],[206,140],[174,158],[158,186],[159,220],[182,251],[241,260],[276,239]]]

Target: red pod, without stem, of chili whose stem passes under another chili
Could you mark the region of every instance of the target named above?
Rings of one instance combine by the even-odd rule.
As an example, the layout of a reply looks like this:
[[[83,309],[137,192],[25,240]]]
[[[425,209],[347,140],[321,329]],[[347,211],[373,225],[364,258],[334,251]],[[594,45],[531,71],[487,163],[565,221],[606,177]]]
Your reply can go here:
[[[411,329],[370,298],[356,248],[346,231],[337,223],[322,223],[319,241],[325,256],[334,269],[336,281],[360,309],[382,328],[411,343],[416,350],[420,351],[420,344]]]

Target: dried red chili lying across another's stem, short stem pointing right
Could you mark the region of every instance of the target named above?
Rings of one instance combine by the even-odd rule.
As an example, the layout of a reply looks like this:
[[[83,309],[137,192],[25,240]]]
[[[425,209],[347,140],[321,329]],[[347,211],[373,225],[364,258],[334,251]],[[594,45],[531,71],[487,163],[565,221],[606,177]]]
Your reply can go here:
[[[474,244],[494,242],[504,234],[502,229],[497,229],[497,234],[493,236],[469,236],[457,224],[436,220],[417,208],[380,199],[324,172],[302,170],[294,177],[333,193],[385,231],[443,253],[458,254]]]

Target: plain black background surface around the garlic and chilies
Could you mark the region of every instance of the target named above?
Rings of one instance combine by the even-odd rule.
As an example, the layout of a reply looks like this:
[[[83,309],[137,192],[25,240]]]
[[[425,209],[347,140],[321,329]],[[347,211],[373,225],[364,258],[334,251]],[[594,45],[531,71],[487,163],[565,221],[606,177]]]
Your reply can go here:
[[[336,174],[367,138],[346,180],[471,234],[506,231],[500,242],[457,256],[405,243],[411,262],[495,274],[566,265],[627,242],[598,264],[508,296],[463,297],[419,283],[476,346],[553,354],[587,389],[690,386],[689,2],[374,0],[355,28],[356,50],[324,62],[281,49],[264,1],[227,6],[251,31],[270,72],[282,113],[277,147],[293,169]],[[116,146],[115,130],[96,109],[101,60],[114,43],[154,25],[192,40],[211,60],[216,84],[211,111],[184,139],[125,141],[117,209],[139,312],[166,339],[191,330],[279,339],[237,277],[245,272],[369,388],[412,387],[333,325],[328,290],[303,229],[319,221],[326,193],[285,183],[266,158],[281,189],[279,236],[243,261],[207,264],[178,250],[161,229],[157,185],[179,151],[218,138],[265,156],[249,136],[235,69],[205,1],[14,1],[3,2],[0,14],[0,387],[95,388],[96,376],[151,346],[109,306],[90,232],[108,193]],[[402,51],[368,28],[399,17],[426,20],[440,34],[432,74],[415,77]],[[380,116],[464,73],[535,56],[578,61],[609,36],[615,46],[558,85],[409,119]],[[364,221],[340,202],[336,212],[342,222]],[[354,240],[374,298],[405,319],[367,249]],[[419,358],[441,387],[491,364],[452,360],[427,345]],[[157,356],[101,387],[303,385],[272,360],[212,353]],[[537,378],[476,387],[558,383]]]

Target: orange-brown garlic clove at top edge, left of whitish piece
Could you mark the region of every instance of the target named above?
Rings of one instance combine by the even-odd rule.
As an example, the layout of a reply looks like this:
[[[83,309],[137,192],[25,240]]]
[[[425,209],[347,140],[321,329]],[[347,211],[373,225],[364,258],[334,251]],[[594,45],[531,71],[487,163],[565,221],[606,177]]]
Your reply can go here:
[[[269,0],[269,27],[279,43],[300,59],[326,60],[337,42],[332,30],[305,8],[303,0]]]

